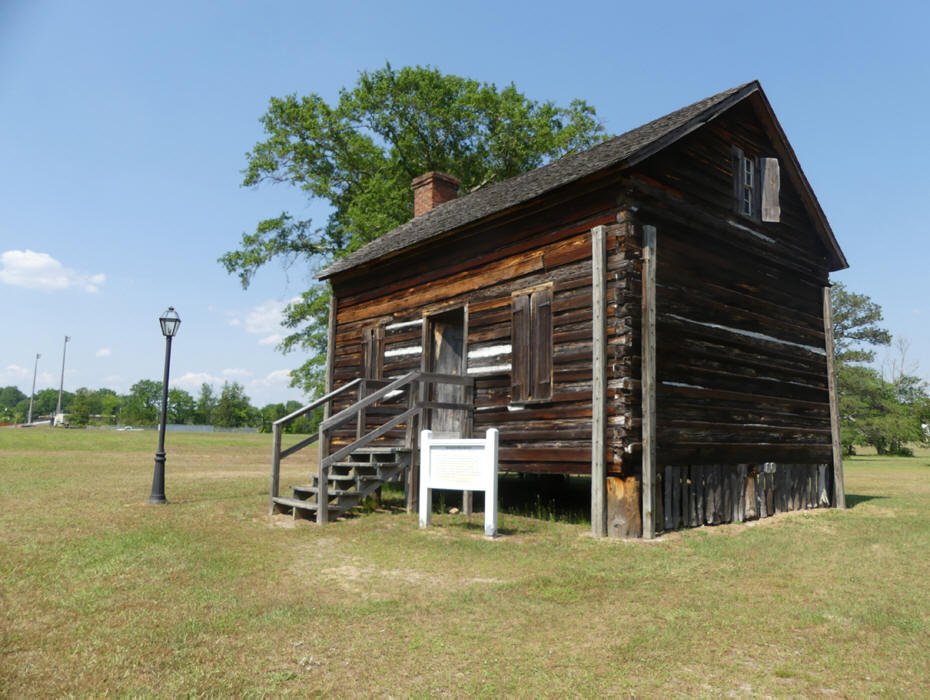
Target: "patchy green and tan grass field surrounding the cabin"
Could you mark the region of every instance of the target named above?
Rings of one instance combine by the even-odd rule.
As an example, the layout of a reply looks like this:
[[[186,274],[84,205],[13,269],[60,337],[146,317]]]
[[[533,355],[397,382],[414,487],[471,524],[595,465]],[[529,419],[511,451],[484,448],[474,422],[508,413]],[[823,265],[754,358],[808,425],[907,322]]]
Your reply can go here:
[[[155,442],[0,430],[0,696],[930,693],[926,454],[849,460],[845,512],[489,541],[269,517],[264,435],[169,434],[149,506]]]

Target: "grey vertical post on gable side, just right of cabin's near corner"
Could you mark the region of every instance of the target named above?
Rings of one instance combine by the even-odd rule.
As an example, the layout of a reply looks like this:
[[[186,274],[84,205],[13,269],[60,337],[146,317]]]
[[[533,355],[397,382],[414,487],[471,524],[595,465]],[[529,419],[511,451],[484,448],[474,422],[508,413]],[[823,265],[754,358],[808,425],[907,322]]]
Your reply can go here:
[[[642,408],[643,537],[656,535],[656,229],[643,226]]]

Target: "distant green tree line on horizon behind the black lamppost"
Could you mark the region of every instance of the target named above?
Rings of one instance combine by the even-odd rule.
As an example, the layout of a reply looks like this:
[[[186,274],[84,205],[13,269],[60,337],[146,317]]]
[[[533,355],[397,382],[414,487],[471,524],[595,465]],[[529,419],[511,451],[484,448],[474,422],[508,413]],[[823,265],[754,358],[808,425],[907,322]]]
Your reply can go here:
[[[65,391],[61,395],[61,410],[68,424],[154,426],[161,417],[161,382],[143,379],[118,394],[112,389]],[[225,382],[217,394],[210,384],[202,384],[195,398],[184,389],[168,390],[168,422],[188,425],[212,425],[218,428],[254,427],[271,431],[271,424],[296,411],[299,401],[270,403],[264,408],[251,404],[245,389],[238,382]],[[58,390],[43,389],[35,395],[32,416],[53,416],[58,406]],[[0,423],[25,422],[29,413],[29,397],[15,386],[0,389]],[[319,416],[301,416],[285,431],[315,432]]]

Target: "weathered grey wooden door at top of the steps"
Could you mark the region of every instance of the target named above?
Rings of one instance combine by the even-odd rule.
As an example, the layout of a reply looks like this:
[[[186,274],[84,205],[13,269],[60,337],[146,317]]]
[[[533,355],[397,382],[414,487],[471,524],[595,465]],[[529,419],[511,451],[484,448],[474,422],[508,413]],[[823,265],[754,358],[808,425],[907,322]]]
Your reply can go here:
[[[455,374],[465,371],[465,309],[454,309],[428,319],[428,372]],[[465,398],[464,387],[454,384],[434,384],[430,399],[444,403],[460,403]],[[429,411],[428,425],[437,436],[461,437],[465,427],[464,411],[439,408]]]

